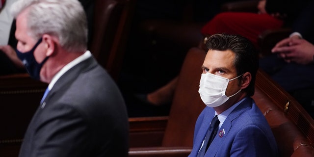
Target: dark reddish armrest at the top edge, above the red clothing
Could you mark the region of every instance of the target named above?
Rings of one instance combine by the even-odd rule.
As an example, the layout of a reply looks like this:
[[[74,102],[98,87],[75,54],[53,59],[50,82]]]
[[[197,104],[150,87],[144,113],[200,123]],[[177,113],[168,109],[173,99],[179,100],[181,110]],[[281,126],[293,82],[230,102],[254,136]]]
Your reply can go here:
[[[226,2],[221,5],[221,11],[236,12],[258,12],[257,5],[259,0],[239,0],[234,2]]]

